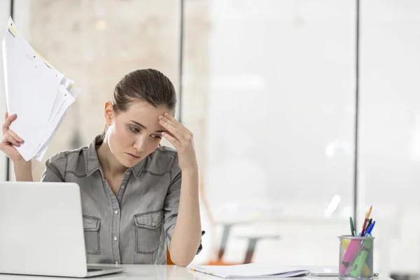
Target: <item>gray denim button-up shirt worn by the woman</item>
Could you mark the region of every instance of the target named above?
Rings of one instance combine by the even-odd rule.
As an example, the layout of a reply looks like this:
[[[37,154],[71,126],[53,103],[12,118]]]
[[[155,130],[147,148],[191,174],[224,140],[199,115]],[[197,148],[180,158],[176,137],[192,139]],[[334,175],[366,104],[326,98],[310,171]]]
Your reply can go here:
[[[41,181],[80,186],[87,262],[166,264],[181,191],[178,154],[157,148],[127,169],[114,195],[99,165],[100,144],[96,137],[88,147],[53,155]]]

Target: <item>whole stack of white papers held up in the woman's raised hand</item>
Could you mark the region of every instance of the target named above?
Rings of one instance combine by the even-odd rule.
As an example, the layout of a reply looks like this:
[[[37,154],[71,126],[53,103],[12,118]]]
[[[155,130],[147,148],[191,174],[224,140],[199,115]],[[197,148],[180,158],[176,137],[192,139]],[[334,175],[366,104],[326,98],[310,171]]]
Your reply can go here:
[[[25,141],[16,147],[22,157],[41,161],[80,90],[29,45],[11,18],[2,43],[7,111],[18,115],[10,130]]]

